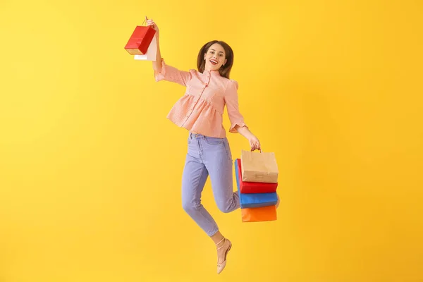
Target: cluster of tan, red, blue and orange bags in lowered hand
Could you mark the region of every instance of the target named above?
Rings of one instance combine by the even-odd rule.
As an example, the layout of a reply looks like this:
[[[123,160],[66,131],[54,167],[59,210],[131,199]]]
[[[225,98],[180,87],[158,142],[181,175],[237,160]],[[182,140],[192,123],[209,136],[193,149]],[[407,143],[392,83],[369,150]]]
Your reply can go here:
[[[235,159],[235,179],[243,222],[277,219],[278,165],[274,153],[243,150],[241,159]]]

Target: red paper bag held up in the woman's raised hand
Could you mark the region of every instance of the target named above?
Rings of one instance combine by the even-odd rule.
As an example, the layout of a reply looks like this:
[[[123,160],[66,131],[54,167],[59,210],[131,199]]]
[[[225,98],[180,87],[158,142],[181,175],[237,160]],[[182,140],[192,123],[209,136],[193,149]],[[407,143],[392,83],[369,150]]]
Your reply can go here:
[[[152,43],[154,35],[156,35],[156,30],[151,25],[137,25],[125,45],[125,50],[131,55],[147,54],[147,49]]]

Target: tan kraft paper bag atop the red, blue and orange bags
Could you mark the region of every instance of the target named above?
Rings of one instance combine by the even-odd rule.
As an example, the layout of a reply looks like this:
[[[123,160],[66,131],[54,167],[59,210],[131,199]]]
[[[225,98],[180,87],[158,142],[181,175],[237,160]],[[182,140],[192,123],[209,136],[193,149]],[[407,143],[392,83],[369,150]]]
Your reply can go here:
[[[278,164],[273,152],[241,152],[243,181],[278,183]]]

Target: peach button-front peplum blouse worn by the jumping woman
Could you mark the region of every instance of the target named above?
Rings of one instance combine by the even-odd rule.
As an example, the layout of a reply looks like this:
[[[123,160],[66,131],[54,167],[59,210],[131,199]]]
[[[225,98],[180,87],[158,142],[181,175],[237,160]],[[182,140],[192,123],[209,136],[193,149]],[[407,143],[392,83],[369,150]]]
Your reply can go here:
[[[226,104],[230,133],[235,125],[247,126],[238,109],[238,82],[224,78],[219,71],[179,71],[161,59],[161,72],[154,71],[157,82],[167,80],[186,87],[185,94],[173,105],[167,118],[181,128],[209,137],[226,137],[223,109]]]

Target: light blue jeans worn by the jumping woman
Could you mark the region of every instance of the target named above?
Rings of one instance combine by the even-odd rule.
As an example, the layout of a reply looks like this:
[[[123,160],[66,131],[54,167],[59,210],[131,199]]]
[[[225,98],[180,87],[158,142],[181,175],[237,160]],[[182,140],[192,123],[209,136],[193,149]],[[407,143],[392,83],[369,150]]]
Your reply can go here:
[[[233,192],[232,154],[227,138],[207,137],[190,133],[188,154],[182,177],[182,205],[191,218],[207,233],[219,228],[201,204],[201,194],[210,176],[214,200],[222,212],[240,207],[238,192]]]

